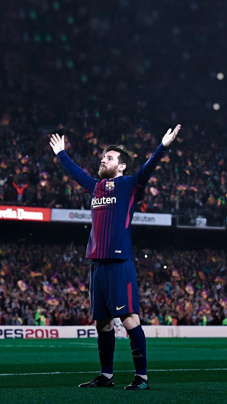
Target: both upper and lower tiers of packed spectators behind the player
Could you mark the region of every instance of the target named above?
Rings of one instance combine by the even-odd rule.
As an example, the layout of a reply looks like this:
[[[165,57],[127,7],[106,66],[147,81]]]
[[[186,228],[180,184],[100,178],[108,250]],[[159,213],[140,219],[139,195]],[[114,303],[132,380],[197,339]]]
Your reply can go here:
[[[94,177],[107,143],[127,145],[133,174],[180,122],[137,210],[183,215],[184,224],[204,215],[223,225],[226,123],[212,108],[226,99],[225,80],[217,82],[217,60],[226,65],[221,8],[200,2],[205,25],[196,3],[88,3],[14,0],[4,7],[0,204],[90,208],[90,196],[53,155],[52,133],[65,135],[68,154]],[[156,36],[148,35],[153,27]],[[148,259],[135,248],[143,324],[226,321],[225,251],[146,252]],[[1,324],[91,324],[84,257],[74,244],[1,243]]]

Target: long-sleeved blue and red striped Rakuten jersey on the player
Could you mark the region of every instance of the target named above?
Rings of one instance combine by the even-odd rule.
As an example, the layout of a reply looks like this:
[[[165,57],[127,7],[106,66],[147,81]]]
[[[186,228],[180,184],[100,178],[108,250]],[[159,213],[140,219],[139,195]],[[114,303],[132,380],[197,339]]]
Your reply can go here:
[[[166,150],[161,143],[134,175],[100,180],[85,173],[65,150],[58,153],[67,173],[92,196],[92,230],[86,258],[133,259],[131,221],[135,206]]]

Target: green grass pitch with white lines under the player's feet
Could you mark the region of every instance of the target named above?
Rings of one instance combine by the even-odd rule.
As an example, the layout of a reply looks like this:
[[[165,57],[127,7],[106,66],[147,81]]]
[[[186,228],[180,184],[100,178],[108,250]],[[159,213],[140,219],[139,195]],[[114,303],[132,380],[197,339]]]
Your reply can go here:
[[[79,389],[99,374],[96,339],[0,340],[0,403],[227,403],[227,338],[148,338],[149,391],[133,380],[129,341],[116,340],[115,388]]]

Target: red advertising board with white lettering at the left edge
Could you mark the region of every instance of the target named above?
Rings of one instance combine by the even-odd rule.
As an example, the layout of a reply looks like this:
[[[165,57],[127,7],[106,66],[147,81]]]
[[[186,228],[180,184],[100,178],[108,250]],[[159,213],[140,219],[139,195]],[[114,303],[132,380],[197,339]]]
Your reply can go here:
[[[26,220],[37,222],[50,221],[49,208],[29,208],[27,206],[0,206],[0,219]]]

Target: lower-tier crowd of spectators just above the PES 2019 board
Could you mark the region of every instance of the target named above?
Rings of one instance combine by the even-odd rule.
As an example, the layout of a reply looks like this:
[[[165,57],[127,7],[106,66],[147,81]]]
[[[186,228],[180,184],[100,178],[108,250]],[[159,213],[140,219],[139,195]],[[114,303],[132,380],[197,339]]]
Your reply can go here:
[[[223,250],[134,248],[144,325],[227,325]],[[147,258],[145,258],[145,256]],[[2,244],[1,325],[91,325],[85,247]]]

